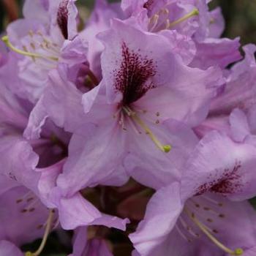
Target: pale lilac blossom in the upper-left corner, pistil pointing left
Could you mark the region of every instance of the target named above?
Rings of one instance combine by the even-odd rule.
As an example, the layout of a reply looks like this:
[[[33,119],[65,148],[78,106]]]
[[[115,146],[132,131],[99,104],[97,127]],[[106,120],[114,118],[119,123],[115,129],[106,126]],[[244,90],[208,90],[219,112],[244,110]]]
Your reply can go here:
[[[46,1],[47,9],[39,1],[31,2],[23,7],[25,18],[7,28],[4,42],[18,54],[10,56],[1,75],[8,80],[12,74],[15,83],[10,89],[34,103],[42,95],[51,69],[63,62],[74,67],[87,61],[87,42],[78,37],[75,1]]]

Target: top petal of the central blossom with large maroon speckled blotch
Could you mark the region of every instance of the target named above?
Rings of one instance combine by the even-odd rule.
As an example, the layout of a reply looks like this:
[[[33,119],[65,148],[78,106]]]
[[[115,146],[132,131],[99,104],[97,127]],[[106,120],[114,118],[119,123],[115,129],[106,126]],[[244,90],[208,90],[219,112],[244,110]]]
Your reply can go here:
[[[178,64],[165,37],[113,20],[111,29],[100,34],[100,39],[105,45],[102,74],[110,101],[117,93],[127,102],[135,101],[152,86],[166,85],[174,76]],[[132,89],[137,94],[130,96]]]

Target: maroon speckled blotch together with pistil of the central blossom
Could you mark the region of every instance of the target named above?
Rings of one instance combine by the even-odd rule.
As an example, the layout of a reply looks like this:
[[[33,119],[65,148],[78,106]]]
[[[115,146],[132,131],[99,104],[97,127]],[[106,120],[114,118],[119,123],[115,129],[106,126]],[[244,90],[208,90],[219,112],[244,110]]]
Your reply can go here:
[[[171,146],[162,145],[151,129],[138,116],[138,113],[130,107],[133,102],[143,97],[149,89],[155,88],[153,78],[157,74],[157,64],[148,56],[142,56],[140,49],[137,53],[130,50],[125,42],[121,45],[121,56],[121,66],[114,71],[114,87],[123,96],[119,105],[121,108],[119,123],[124,126],[124,116],[129,117],[135,126],[146,132],[146,135],[151,138],[157,148],[167,153]],[[123,129],[126,130],[124,127]]]

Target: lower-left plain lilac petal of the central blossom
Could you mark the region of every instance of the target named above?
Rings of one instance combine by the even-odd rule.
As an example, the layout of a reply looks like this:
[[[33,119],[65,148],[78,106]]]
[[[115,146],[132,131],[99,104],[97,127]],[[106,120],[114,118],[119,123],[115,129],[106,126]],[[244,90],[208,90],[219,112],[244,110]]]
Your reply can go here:
[[[127,181],[122,167],[127,150],[124,141],[124,134],[114,119],[99,127],[88,125],[74,134],[64,172],[57,181],[64,194],[73,195],[84,187],[97,184],[124,184]]]

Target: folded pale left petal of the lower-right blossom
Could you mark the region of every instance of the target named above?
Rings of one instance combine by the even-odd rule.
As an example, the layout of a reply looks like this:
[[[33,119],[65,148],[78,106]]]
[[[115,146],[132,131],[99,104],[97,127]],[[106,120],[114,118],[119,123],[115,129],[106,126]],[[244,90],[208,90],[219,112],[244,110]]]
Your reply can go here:
[[[129,235],[140,255],[154,255],[151,252],[168,237],[182,209],[178,183],[163,187],[156,192],[148,203],[146,215],[140,222],[138,230]]]

